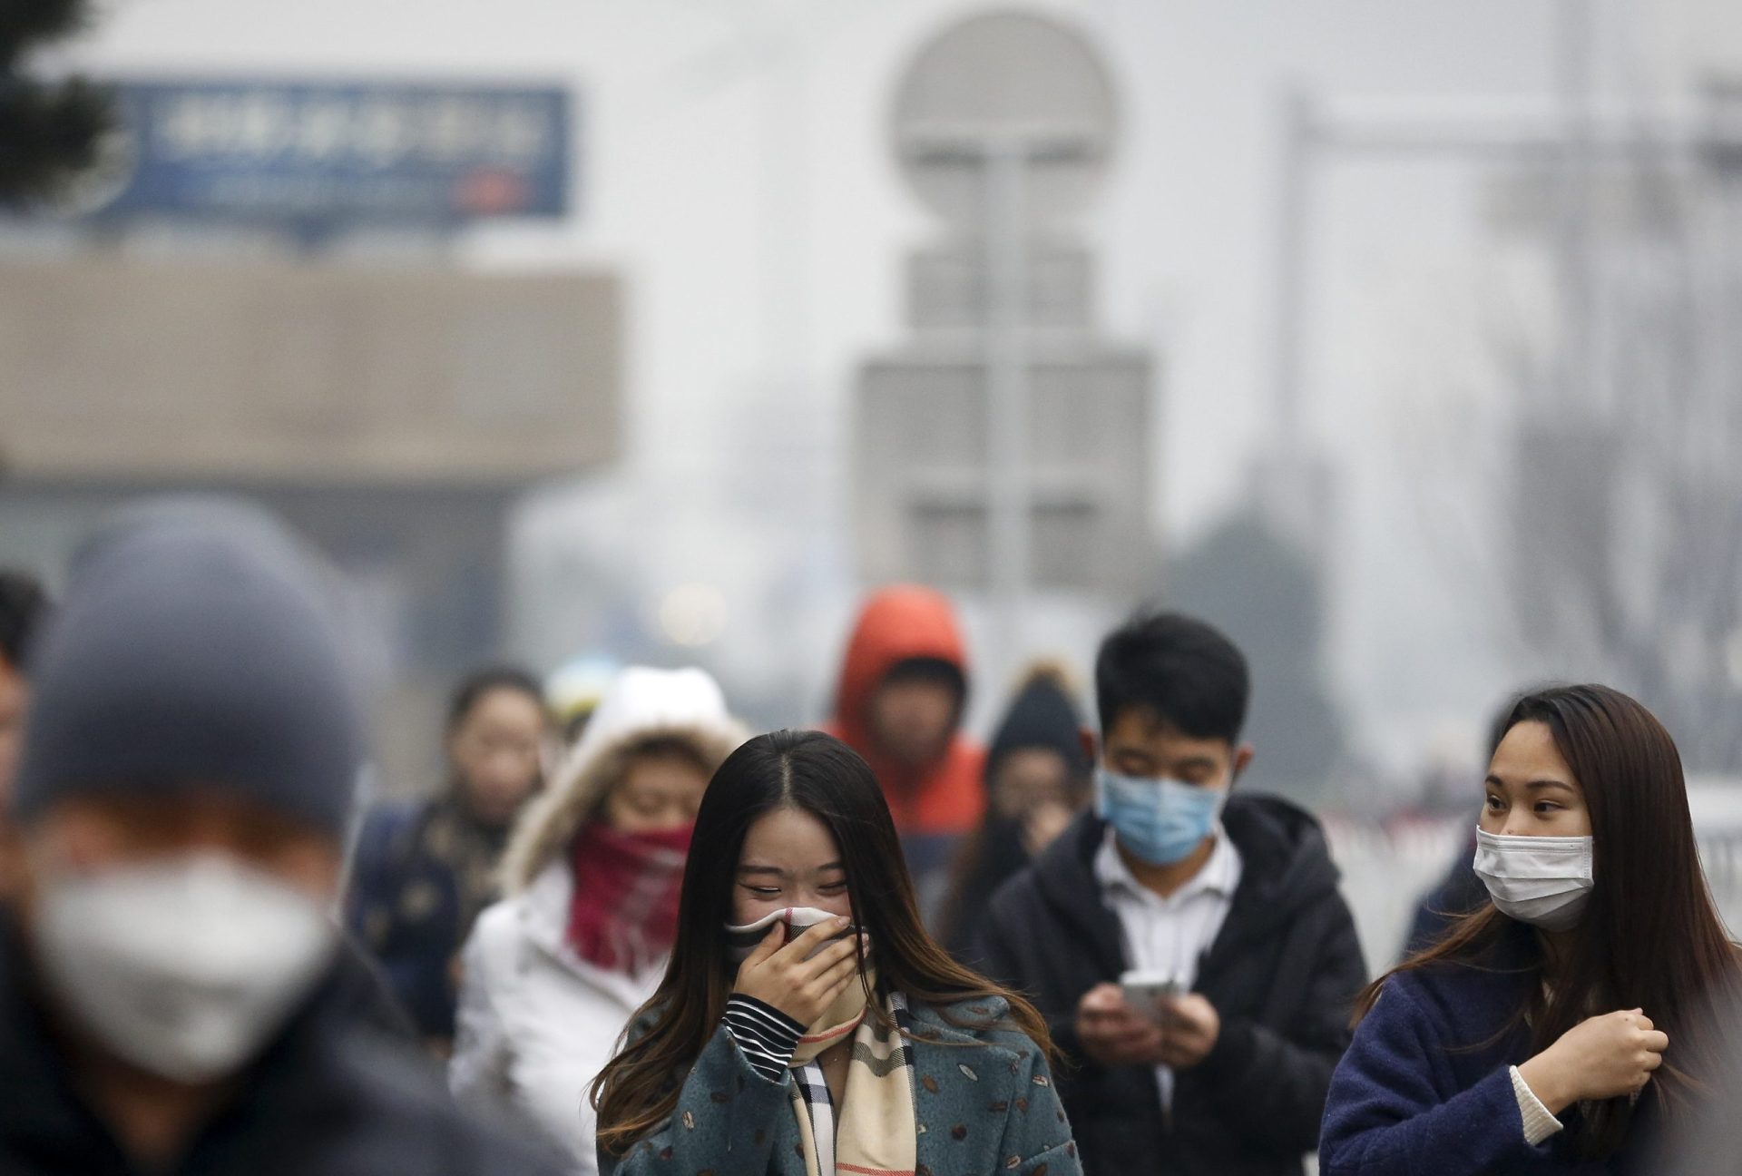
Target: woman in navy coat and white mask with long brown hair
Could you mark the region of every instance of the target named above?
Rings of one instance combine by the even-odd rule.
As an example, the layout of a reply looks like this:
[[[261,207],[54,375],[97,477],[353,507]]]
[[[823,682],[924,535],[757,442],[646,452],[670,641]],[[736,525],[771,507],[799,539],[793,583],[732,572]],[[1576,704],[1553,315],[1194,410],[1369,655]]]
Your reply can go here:
[[[1650,1171],[1726,1054],[1700,1012],[1739,955],[1651,713],[1608,686],[1524,695],[1482,789],[1491,901],[1362,993],[1326,1176]]]

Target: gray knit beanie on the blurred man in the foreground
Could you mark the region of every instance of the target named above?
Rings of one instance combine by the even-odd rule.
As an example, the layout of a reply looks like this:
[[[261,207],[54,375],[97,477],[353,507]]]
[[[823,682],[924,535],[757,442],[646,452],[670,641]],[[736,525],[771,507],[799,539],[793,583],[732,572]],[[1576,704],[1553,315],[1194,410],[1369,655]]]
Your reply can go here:
[[[361,754],[305,552],[253,507],[162,502],[85,547],[35,645],[12,812],[197,786],[336,836]]]

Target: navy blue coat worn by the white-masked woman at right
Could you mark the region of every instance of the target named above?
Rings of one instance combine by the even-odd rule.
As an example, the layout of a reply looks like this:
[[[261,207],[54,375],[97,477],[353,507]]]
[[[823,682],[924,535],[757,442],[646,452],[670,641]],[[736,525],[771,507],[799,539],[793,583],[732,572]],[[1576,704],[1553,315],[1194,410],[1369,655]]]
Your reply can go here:
[[[1528,932],[1523,932],[1528,934]],[[1650,1094],[1622,1153],[1580,1160],[1571,1131],[1531,1146],[1510,1068],[1526,1061],[1529,1030],[1516,1019],[1540,974],[1516,943],[1482,967],[1437,963],[1385,981],[1378,1004],[1331,1080],[1319,1145],[1324,1176],[1495,1176],[1658,1171]]]

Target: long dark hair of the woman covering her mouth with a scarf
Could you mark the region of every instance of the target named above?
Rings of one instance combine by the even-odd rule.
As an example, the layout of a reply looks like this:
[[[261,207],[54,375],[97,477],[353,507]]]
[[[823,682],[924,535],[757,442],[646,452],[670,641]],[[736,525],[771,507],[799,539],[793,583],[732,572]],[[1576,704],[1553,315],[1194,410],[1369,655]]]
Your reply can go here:
[[[925,934],[895,822],[866,761],[822,732],[758,735],[719,765],[702,794],[671,963],[658,991],[638,1014],[652,1024],[592,1082],[599,1146],[611,1153],[620,1155],[672,1115],[678,1105],[672,1077],[695,1063],[719,1026],[735,979],[723,929],[733,922],[732,896],[744,836],[777,808],[814,815],[840,847],[854,920],[876,953],[880,990],[906,993],[934,1009],[1002,997],[1009,1002],[1012,1026],[1042,1052],[1052,1052],[1047,1024],[1033,1005],[962,967]],[[868,986],[868,997],[874,995],[864,960],[859,983]],[[895,1028],[881,1002],[871,1000],[869,1009]]]

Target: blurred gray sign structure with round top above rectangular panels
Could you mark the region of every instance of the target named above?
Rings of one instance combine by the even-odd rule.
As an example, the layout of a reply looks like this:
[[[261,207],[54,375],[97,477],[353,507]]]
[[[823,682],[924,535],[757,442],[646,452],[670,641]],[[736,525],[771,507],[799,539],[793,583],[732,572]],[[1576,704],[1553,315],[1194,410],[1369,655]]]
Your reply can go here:
[[[1155,571],[1150,361],[1096,335],[1068,228],[1113,138],[1096,49],[1026,12],[946,30],[895,96],[902,176],[944,235],[909,260],[913,338],[862,373],[859,570],[984,592],[995,671],[1024,653],[1031,592],[1124,603]]]

